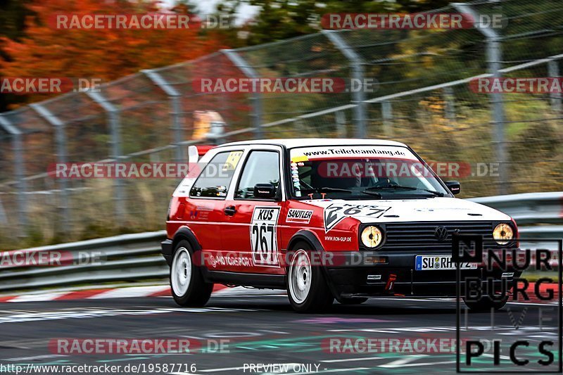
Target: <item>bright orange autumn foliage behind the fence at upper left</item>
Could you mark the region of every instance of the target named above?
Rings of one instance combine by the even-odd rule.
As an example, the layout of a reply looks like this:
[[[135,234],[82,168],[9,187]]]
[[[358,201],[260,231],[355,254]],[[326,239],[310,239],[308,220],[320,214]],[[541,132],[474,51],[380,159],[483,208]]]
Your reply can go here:
[[[189,29],[58,30],[56,14],[143,14],[158,11],[157,1],[34,0],[37,17],[27,19],[20,43],[0,40],[11,61],[1,61],[4,77],[91,77],[115,80],[141,69],[191,60],[224,48],[213,32]],[[188,14],[184,6],[173,9]]]

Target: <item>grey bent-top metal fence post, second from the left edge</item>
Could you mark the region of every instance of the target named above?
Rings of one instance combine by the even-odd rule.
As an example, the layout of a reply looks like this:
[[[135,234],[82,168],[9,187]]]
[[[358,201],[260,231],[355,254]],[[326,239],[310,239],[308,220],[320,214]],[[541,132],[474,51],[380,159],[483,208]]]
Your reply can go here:
[[[66,134],[65,123],[61,121],[56,115],[53,115],[50,110],[45,108],[39,103],[32,103],[30,107],[42,117],[46,122],[55,128],[55,142],[57,152],[57,162],[65,164],[68,162],[67,149],[66,149]],[[68,210],[68,182],[66,179],[58,179],[58,186],[61,188],[61,223],[63,224],[63,231],[68,228],[70,223],[69,210]]]

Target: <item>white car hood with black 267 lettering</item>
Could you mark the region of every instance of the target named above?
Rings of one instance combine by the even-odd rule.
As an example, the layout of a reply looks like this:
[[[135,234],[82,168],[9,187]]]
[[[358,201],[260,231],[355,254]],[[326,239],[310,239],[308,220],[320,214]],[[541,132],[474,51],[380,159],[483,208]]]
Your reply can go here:
[[[422,199],[375,199],[345,201],[343,199],[315,199],[302,201],[327,212],[338,207],[338,215],[353,217],[360,222],[436,222],[436,221],[507,221],[510,216],[494,208],[458,198],[436,197]],[[356,213],[358,212],[358,213]]]

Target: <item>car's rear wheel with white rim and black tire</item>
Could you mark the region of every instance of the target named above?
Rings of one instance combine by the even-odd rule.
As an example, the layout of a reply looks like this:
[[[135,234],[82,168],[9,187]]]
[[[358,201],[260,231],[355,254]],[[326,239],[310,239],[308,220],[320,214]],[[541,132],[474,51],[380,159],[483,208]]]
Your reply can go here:
[[[194,250],[188,241],[176,245],[170,267],[170,290],[176,303],[184,307],[201,307],[208,302],[213,284],[206,283],[201,268],[192,262]]]

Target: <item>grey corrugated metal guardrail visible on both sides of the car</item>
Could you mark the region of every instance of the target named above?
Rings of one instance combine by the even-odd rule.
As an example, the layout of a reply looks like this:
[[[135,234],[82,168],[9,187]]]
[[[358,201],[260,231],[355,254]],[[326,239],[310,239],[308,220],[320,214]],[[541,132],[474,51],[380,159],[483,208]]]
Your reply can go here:
[[[563,238],[563,192],[491,196],[471,201],[501,210],[514,217],[518,224],[561,224],[521,227],[519,232],[524,241],[526,238]],[[160,256],[160,241],[165,236],[165,231],[153,231],[25,249],[25,252],[68,251],[74,258],[83,251],[96,250],[103,255],[103,262],[60,267],[2,267],[0,291],[162,279],[168,277],[169,272]]]

